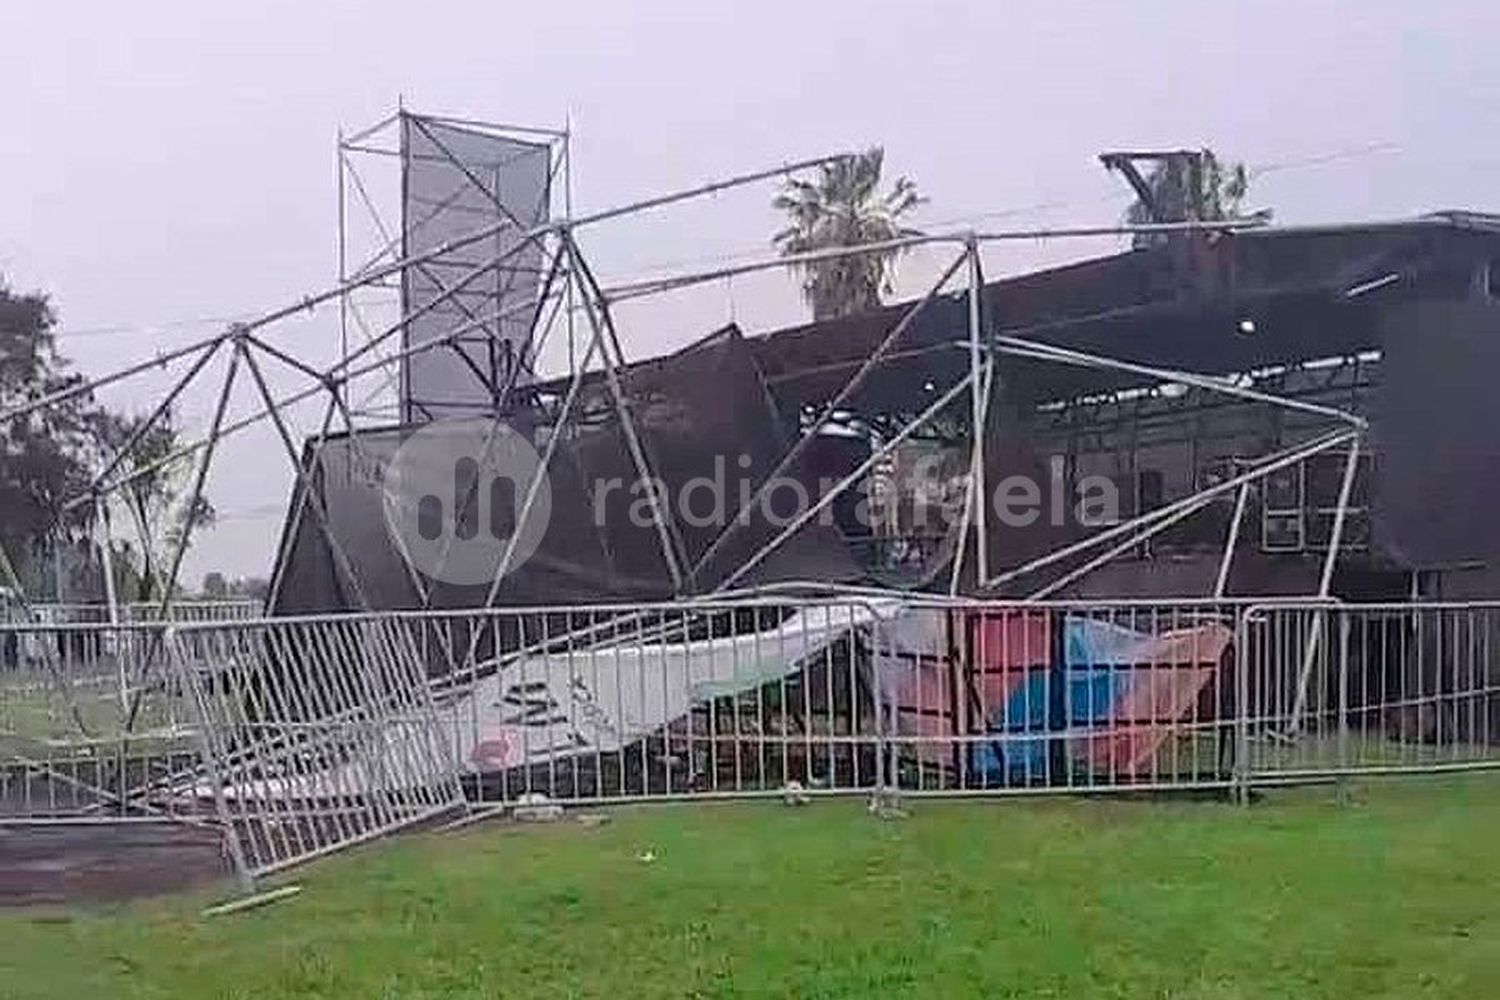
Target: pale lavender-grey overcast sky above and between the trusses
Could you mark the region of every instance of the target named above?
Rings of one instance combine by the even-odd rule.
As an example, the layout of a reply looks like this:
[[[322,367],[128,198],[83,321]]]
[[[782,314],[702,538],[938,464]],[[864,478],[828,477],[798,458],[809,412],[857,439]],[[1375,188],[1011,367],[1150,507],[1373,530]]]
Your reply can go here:
[[[561,126],[580,210],[885,144],[921,223],[1114,220],[1106,148],[1208,145],[1280,222],[1500,208],[1500,4],[33,1],[0,4],[0,274],[52,295],[87,372],[201,337],[334,273],[334,138],[393,109]],[[764,186],[591,235],[608,276],[764,252]],[[1108,249],[1022,244],[990,273]],[[914,259],[916,291],[936,264]],[[624,316],[656,352],[723,319],[801,318],[790,283]],[[336,316],[284,334],[332,358]],[[110,397],[144,409],[160,382]],[[248,405],[248,399],[243,400]],[[201,426],[207,396],[184,403]],[[225,448],[186,582],[264,574],[290,472]]]

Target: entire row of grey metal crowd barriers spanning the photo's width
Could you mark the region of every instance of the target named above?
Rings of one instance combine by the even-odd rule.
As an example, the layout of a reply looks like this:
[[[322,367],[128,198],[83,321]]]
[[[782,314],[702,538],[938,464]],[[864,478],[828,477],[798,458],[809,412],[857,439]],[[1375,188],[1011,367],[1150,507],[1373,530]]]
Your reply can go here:
[[[1500,766],[1500,604],[912,595],[0,625],[0,823],[248,877],[464,807]]]

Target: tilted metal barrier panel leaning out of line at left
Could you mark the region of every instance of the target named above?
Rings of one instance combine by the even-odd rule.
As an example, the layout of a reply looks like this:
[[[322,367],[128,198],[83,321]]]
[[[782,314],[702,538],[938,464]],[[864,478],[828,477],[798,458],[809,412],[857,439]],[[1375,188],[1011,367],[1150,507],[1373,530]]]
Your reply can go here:
[[[182,625],[171,666],[246,880],[465,805],[411,622],[393,615]]]

